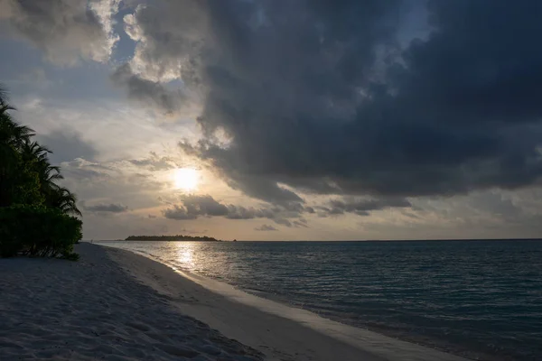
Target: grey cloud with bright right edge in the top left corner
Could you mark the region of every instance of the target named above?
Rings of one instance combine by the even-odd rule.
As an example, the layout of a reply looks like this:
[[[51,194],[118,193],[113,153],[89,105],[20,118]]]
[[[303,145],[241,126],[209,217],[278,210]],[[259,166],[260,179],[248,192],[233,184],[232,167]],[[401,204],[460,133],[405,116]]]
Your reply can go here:
[[[120,0],[0,0],[1,13],[14,30],[48,60],[74,64],[105,62],[118,35],[112,17]]]

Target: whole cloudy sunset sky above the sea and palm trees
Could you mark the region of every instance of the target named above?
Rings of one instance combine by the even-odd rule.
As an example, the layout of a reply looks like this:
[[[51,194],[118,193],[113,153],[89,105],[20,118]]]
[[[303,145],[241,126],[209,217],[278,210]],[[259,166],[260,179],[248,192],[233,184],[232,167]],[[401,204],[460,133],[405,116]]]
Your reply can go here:
[[[85,239],[542,235],[538,0],[0,0]]]

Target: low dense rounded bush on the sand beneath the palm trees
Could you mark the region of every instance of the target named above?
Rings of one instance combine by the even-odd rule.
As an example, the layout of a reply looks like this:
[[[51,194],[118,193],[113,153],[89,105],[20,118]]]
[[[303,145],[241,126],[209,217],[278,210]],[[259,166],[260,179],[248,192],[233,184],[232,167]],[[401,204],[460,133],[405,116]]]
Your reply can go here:
[[[0,256],[30,255],[77,260],[73,245],[82,222],[55,208],[16,205],[0,208]]]

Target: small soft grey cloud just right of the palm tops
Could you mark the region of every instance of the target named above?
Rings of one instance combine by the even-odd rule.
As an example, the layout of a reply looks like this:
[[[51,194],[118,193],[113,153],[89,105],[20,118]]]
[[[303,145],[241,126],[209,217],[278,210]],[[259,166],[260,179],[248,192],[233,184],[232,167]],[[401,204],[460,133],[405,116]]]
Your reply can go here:
[[[92,161],[98,155],[94,145],[84,141],[81,134],[73,130],[60,129],[49,134],[38,134],[36,139],[51,149],[49,158],[53,163],[69,162],[76,158]]]

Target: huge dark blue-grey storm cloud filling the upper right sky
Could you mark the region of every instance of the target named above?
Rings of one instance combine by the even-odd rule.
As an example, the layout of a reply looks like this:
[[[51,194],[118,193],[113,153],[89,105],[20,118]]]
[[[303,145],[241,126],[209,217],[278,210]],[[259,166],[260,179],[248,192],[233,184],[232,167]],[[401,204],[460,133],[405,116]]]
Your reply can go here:
[[[164,0],[132,19],[134,61],[200,92],[206,137],[182,150],[257,199],[303,202],[281,184],[401,199],[536,182],[542,3],[429,1],[433,32],[401,48],[404,3]],[[325,210],[347,211],[369,210]]]

